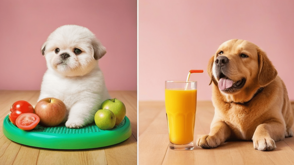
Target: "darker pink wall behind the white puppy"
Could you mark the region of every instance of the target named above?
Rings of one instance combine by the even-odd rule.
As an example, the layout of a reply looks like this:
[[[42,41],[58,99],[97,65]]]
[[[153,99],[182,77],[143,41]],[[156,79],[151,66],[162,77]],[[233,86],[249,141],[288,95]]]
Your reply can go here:
[[[0,90],[39,90],[40,48],[57,27],[90,29],[106,47],[99,60],[108,90],[137,90],[137,1],[0,1]]]

